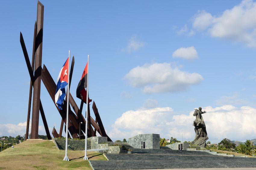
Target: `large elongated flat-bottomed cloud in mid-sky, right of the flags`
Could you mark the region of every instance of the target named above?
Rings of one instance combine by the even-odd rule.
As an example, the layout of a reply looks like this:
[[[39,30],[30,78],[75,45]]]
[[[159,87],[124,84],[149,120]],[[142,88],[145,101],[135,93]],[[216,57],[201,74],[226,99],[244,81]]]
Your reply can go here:
[[[147,94],[184,91],[203,80],[200,74],[173,69],[169,63],[144,64],[130,70],[124,78],[132,87],[143,87]]]

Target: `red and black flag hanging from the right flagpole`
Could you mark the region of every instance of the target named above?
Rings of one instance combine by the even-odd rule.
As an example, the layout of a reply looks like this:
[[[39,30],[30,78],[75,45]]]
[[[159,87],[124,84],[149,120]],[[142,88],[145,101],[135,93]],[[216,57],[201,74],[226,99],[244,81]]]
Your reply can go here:
[[[86,103],[86,95],[87,95],[86,90],[85,90],[85,88],[87,88],[87,76],[88,76],[88,63],[86,64],[86,66],[83,70],[82,78],[76,88],[76,97],[83,100],[84,103]],[[92,100],[90,100],[90,98],[89,98],[88,101],[90,103]]]

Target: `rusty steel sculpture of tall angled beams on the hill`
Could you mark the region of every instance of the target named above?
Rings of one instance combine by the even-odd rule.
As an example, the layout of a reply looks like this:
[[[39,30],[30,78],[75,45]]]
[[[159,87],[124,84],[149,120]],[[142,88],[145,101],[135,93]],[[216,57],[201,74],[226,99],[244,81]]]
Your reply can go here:
[[[23,54],[25,57],[25,61],[27,64],[28,72],[30,75],[30,92],[29,92],[29,102],[28,102],[28,115],[27,115],[27,130],[26,130],[26,139],[28,139],[29,132],[29,123],[30,123],[30,109],[31,109],[31,98],[32,98],[32,90],[33,90],[33,105],[32,105],[32,125],[31,125],[31,137],[30,139],[38,139],[38,125],[39,125],[39,111],[42,116],[42,121],[45,127],[46,135],[48,139],[51,139],[51,135],[48,129],[47,121],[45,118],[42,102],[40,100],[40,88],[41,88],[41,80],[44,83],[52,101],[55,105],[55,90],[56,84],[52,79],[51,74],[47,70],[46,66],[43,65],[42,68],[42,43],[43,43],[43,17],[44,17],[44,5],[41,2],[37,2],[37,18],[34,28],[34,39],[33,39],[33,53],[32,53],[32,63],[30,64],[29,56],[27,53],[27,49],[23,40],[23,36],[20,32],[20,44],[23,50]],[[71,69],[70,69],[70,82],[72,79],[72,73],[74,68],[74,56],[72,58]],[[66,96],[67,97],[67,96]],[[83,109],[83,100],[81,100],[80,108],[78,108],[75,100],[72,95],[69,95],[69,116],[67,118],[66,109],[67,102],[64,100],[63,109],[58,109],[58,112],[61,115],[61,127],[60,132],[58,133],[55,130],[55,127],[52,130],[53,137],[61,137],[64,123],[69,121],[68,123],[68,131],[70,132],[72,138],[79,138],[79,134],[81,131],[85,132],[86,127],[79,127],[80,122],[86,124],[86,120],[82,115]],[[74,112],[71,110],[73,108]],[[95,114],[95,120],[90,116],[90,111],[88,108],[88,137],[96,136],[96,132],[98,132],[101,136],[108,137],[103,127],[100,115],[98,113],[98,109],[95,105],[95,102],[92,104],[92,109]],[[94,129],[93,129],[94,128]],[[81,133],[83,134],[83,133]],[[85,136],[81,136],[81,139],[85,139]],[[112,141],[108,137],[108,141]]]

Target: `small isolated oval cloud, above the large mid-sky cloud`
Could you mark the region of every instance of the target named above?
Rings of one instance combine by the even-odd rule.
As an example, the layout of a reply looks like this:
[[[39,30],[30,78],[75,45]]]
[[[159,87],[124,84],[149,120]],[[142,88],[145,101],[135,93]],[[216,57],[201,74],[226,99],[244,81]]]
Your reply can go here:
[[[198,58],[197,51],[194,46],[187,48],[179,48],[173,52],[173,58],[195,59]]]

